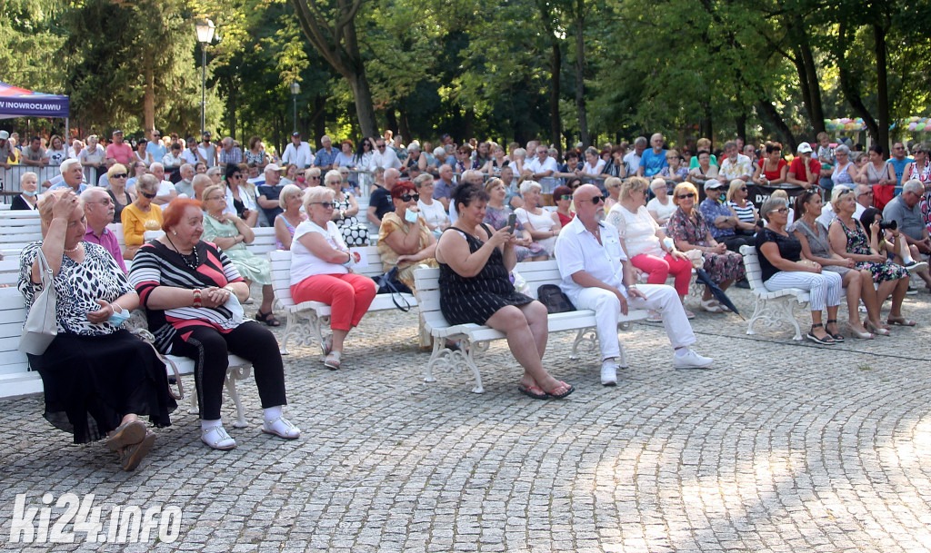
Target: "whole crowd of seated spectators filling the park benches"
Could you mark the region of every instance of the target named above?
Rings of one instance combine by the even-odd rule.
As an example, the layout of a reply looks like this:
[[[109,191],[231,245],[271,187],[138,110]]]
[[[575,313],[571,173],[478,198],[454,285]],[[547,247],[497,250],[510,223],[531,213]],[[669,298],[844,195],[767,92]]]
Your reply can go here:
[[[650,147],[641,137],[629,150],[627,145],[571,149],[559,160],[564,164],[550,170],[546,167],[556,161],[552,154],[559,152],[536,140],[526,149],[516,143],[505,149],[479,142],[475,149],[463,145],[447,150],[417,142],[404,147],[398,137],[379,137],[364,140],[361,152],[355,153],[344,142],[330,159],[325,148],[317,157],[308,156],[309,146],[300,136],[293,138],[282,165],[258,138],[250,140],[249,151],[239,158],[230,150],[238,148],[235,143],[224,140],[218,149],[209,145],[209,136],[201,142],[189,138],[187,148],[163,143],[167,148],[161,157],[157,148],[132,148],[122,141],[122,133],[115,133],[105,149],[96,138],[88,138],[90,150],[77,143],[75,159],[84,160],[82,171],[91,167],[95,178],[106,179],[105,195],[95,193],[101,189],[84,177],[74,179],[70,172],[75,162],[61,153],[68,151],[61,139],[53,141],[49,153],[49,159],[63,157],[60,180],[22,173],[14,203],[19,209],[38,210],[43,221],[43,241],[20,256],[20,290],[27,305],[38,291],[37,249],[51,258],[56,287],[91,271],[88,279],[99,288],[74,301],[100,309],[62,309],[60,336],[48,353],[30,357],[47,389],[46,416],[52,424],[68,428],[74,441],[106,438],[120,455],[121,467],[138,467],[155,441],[151,430],[141,427],[140,417],[149,416],[155,426],[168,425],[174,408],[157,360],[144,349],[130,348],[131,340],[120,330],[120,314],[142,305],[156,349],[198,363],[202,441],[215,449],[236,447],[219,411],[227,353],[255,363],[263,432],[297,438],[300,430],[282,411],[287,400],[275,336],[258,324],[278,324],[269,264],[251,254],[247,244],[256,227],[274,228],[276,247],[292,254],[291,296],[298,303],[316,300],[332,306],[323,364],[340,368],[346,337],[377,292],[370,278],[353,270],[360,258],[350,248],[375,242],[358,218],[359,183],[371,182],[388,200],[378,220],[382,270],[397,268],[398,283],[413,290],[413,270],[439,267],[440,309],[448,322],[487,324],[504,332],[522,368],[519,391],[535,399],[564,398],[574,388],[546,371],[546,309],[515,292],[509,273],[519,261],[555,257],[565,272],[565,289],[582,294],[583,288],[600,287],[587,276],[604,268],[585,265],[590,259],[584,260],[584,268],[576,267],[574,255],[559,258],[559,244],[580,240],[580,233],[592,234],[605,251],[623,255],[625,262],[613,266],[611,282],[623,283],[624,291],[618,286],[617,294],[609,290],[612,301],[623,306],[617,309],[627,309],[628,301],[642,305],[650,309],[650,321],[666,324],[676,366],[681,367],[711,364],[689,349],[695,336],[688,320],[695,313],[684,304],[692,269],[704,270],[726,291],[745,277],[741,245],[756,249],[767,289],[809,292],[812,324],[806,337],[820,345],[836,346],[847,332],[870,339],[888,336],[895,326],[914,325],[903,312],[910,275],[918,275],[931,290],[925,262],[931,254],[931,164],[924,144],[912,148],[910,159],[896,143],[894,157],[885,161],[879,146],[854,159],[857,152],[848,146],[830,147],[819,140],[816,150],[800,145],[789,162],[775,142],[757,149],[729,141],[716,155],[709,141],[665,149],[662,136],[654,135]],[[551,197],[535,178],[555,184]],[[825,179],[830,185],[822,186]],[[52,191],[42,194],[46,183]],[[754,185],[793,183],[803,190],[791,191],[792,204],[785,190],[772,191],[762,205],[750,196]],[[899,183],[901,193],[896,194]],[[80,198],[72,192],[88,190]],[[823,200],[828,190],[830,208]],[[877,201],[878,195],[884,202]],[[584,221],[578,221],[579,213]],[[128,275],[114,252],[94,243],[105,234],[99,223],[109,220],[122,223],[125,246],[120,254],[132,260]],[[146,244],[147,230],[164,233]],[[602,237],[614,236],[617,244],[602,243]],[[695,252],[697,261],[688,252]],[[638,291],[627,273],[616,272],[627,267],[647,275],[645,291]],[[673,286],[659,288],[670,276]],[[262,287],[255,321],[241,307],[249,299],[250,283]],[[851,307],[842,326],[843,296]],[[867,311],[862,320],[857,309],[861,302]],[[700,307],[711,313],[727,310],[708,288]],[[429,347],[423,322],[419,335],[420,345]],[[129,393],[84,364],[65,375],[62,363],[89,350],[91,341],[104,349],[88,359],[121,352],[120,366],[126,364],[128,374],[145,385]],[[602,383],[615,382],[614,353],[602,353]],[[106,370],[115,370],[113,363]],[[99,404],[88,403],[89,397]],[[74,402],[82,402],[87,413],[74,411]]]

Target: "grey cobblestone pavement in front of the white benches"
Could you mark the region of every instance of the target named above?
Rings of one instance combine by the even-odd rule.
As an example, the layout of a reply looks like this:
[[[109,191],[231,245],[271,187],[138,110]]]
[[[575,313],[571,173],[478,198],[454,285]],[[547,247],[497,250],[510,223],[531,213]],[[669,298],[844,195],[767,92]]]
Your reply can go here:
[[[732,296],[751,312],[747,291]],[[918,327],[832,348],[791,342],[785,329],[746,336],[735,315],[700,313],[710,371],[672,369],[662,326],[636,324],[622,334],[630,368],[616,388],[600,386],[595,354],[570,360],[572,336],[556,334],[547,367],[576,387],[561,402],[516,391],[503,342],[481,359],[484,394],[466,374],[425,383],[416,316],[372,314],[350,335],[343,369],[324,370],[317,349],[286,357],[299,441],[259,431],[249,380],[250,428],[231,428],[224,405],[236,450],[207,449],[196,415],[179,409],[130,474],[100,443],[75,446],[51,428],[40,397],[3,400],[0,548],[928,551],[929,298],[907,300]],[[69,493],[95,494],[101,533],[130,506],[161,507],[166,533],[126,545],[83,533],[74,544],[10,543],[18,494],[28,509]],[[173,533],[171,507],[182,512]],[[56,521],[69,521],[63,508]]]

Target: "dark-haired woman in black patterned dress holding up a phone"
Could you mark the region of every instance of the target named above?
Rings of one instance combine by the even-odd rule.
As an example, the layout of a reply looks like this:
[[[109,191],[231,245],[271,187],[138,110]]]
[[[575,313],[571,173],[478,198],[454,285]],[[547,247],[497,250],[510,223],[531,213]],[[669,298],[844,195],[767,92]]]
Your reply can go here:
[[[514,290],[508,274],[517,264],[515,235],[509,227],[493,231],[482,221],[488,193],[462,185],[452,202],[459,218],[437,244],[439,309],[450,324],[476,323],[505,333],[507,345],[524,368],[518,389],[534,399],[564,398],[573,387],[543,368],[546,307]]]

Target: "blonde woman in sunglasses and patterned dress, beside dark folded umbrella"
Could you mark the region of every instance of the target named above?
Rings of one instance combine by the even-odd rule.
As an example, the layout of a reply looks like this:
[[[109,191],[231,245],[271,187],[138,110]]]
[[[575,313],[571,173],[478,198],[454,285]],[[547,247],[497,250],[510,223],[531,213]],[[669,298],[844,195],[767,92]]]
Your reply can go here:
[[[746,276],[744,259],[736,252],[727,250],[727,246],[711,237],[708,223],[701,212],[695,209],[698,191],[691,182],[681,182],[672,191],[672,202],[679,208],[669,217],[667,233],[681,252],[698,250],[705,258],[703,269],[708,277],[722,290],[735,281]],[[711,313],[722,313],[724,308],[711,297],[711,291],[705,288],[701,298],[701,307]]]

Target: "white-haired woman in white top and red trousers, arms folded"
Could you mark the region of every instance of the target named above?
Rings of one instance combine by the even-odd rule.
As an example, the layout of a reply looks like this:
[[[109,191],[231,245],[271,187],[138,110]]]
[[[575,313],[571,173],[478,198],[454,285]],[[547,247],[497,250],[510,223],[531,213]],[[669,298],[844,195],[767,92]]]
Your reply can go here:
[[[323,364],[335,371],[342,362],[345,337],[369,310],[376,287],[370,278],[350,270],[359,255],[349,252],[343,233],[332,221],[333,197],[332,189],[325,186],[304,191],[308,219],[294,230],[290,290],[295,303],[320,301],[331,306],[332,336],[323,344],[327,351]]]

